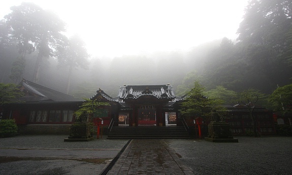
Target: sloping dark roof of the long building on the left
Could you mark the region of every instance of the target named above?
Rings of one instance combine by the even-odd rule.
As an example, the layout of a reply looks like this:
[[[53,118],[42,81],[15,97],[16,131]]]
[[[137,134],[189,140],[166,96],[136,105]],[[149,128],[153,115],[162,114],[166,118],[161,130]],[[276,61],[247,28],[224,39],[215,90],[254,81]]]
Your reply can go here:
[[[32,101],[80,101],[82,99],[75,98],[71,95],[64,94],[53,89],[41,86],[39,84],[23,79],[20,82],[21,89],[25,96],[21,100],[26,102]]]

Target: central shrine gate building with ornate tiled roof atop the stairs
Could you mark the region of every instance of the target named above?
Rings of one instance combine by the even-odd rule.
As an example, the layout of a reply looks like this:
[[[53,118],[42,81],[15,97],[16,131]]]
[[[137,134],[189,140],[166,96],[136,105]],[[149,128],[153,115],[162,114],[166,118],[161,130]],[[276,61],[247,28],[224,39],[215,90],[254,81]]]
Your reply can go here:
[[[100,89],[91,99],[111,104],[106,111],[114,126],[166,126],[177,125],[180,120],[182,98],[174,95],[171,85],[124,85],[115,98]]]

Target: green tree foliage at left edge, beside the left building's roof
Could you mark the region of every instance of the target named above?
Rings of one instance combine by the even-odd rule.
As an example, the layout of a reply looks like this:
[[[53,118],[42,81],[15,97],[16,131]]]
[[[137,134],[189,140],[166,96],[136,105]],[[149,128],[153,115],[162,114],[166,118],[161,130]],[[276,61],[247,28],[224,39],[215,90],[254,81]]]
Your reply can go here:
[[[11,103],[23,95],[17,85],[0,83],[0,106]]]

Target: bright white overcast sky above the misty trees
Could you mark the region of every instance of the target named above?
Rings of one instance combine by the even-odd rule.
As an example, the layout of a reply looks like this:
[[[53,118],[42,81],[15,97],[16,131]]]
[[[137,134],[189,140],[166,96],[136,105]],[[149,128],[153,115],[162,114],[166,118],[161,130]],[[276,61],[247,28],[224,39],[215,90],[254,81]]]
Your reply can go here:
[[[209,1],[2,1],[0,18],[11,6],[34,2],[56,13],[78,33],[92,56],[122,56],[188,50],[200,43],[236,39],[248,0]]]

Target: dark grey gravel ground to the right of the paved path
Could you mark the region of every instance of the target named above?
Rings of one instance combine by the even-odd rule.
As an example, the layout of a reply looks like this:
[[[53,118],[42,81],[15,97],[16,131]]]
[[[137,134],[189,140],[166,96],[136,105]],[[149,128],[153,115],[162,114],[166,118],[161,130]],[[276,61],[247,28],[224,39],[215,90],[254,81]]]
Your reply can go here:
[[[292,174],[291,137],[236,137],[239,143],[165,140],[195,174]]]

